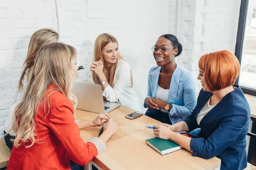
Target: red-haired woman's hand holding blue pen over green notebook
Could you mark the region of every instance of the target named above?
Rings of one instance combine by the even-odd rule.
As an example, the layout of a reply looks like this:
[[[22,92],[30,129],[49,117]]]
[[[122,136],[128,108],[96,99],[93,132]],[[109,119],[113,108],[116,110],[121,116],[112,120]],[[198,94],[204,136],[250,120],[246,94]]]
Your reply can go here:
[[[156,128],[156,129],[154,129],[154,135],[160,139],[170,140],[172,134],[175,133],[166,126],[153,125],[153,127]]]

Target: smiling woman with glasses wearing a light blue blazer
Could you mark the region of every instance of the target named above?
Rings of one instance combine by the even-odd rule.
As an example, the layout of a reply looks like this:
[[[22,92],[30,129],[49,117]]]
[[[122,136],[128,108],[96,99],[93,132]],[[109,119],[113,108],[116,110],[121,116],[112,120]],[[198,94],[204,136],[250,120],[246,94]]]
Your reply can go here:
[[[191,74],[177,65],[175,57],[182,45],[172,34],[160,36],[152,47],[157,66],[148,74],[148,94],[145,115],[170,125],[189,116],[196,105],[196,88]]]

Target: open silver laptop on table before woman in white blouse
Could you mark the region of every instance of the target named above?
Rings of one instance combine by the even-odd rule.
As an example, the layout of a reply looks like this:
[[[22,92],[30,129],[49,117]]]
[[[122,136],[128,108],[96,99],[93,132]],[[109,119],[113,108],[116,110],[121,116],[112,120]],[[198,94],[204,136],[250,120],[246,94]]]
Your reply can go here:
[[[94,113],[108,113],[119,107],[119,103],[104,102],[101,85],[74,82],[71,92],[77,97],[77,109]]]

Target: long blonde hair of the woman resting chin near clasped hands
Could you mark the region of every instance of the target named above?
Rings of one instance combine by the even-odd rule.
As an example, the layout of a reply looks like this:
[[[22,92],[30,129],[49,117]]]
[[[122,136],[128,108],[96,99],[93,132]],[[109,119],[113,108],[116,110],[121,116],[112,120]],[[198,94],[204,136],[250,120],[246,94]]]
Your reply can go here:
[[[93,53],[93,61],[99,61],[99,59],[102,59],[102,61],[104,61],[103,55],[102,55],[102,49],[108,45],[108,43],[110,42],[115,42],[118,45],[118,42],[116,40],[116,38],[111,35],[111,34],[100,34],[96,40],[95,40],[95,44],[94,44],[94,53]],[[119,53],[118,55],[118,59],[116,60],[116,63],[112,64],[109,68],[110,70],[110,75],[109,75],[109,85],[113,88],[114,85],[114,76],[115,76],[115,72],[116,72],[116,65],[118,63],[119,59],[123,59],[123,57],[121,56],[121,54]],[[106,74],[107,68],[104,65],[103,62],[103,72],[105,74],[105,77],[108,77],[108,75]],[[96,78],[95,78],[95,74],[93,73],[93,81],[96,83]],[[131,87],[133,85],[133,79],[132,79],[132,73],[131,73]]]

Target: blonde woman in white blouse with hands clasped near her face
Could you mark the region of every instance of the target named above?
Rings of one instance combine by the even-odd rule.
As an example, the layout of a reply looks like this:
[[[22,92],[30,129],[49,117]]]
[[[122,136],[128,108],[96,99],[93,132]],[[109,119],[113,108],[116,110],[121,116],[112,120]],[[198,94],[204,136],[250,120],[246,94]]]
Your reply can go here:
[[[141,111],[138,96],[132,88],[131,67],[119,54],[118,42],[111,34],[100,34],[96,38],[90,71],[93,81],[102,86],[106,100]]]

